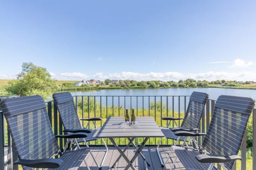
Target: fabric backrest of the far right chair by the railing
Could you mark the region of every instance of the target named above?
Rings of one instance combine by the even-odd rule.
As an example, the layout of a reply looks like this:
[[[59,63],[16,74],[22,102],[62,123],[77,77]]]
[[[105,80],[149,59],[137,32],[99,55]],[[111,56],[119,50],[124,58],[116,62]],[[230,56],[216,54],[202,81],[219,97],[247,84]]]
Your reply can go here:
[[[191,94],[188,108],[181,124],[182,128],[197,128],[199,126],[208,98],[209,95],[204,92],[194,91]]]

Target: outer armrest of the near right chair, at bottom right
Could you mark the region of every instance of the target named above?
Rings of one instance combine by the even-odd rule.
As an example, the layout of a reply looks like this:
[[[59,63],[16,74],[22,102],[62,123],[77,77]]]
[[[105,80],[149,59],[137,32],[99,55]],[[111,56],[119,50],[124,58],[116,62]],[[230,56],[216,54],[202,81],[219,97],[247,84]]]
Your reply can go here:
[[[196,156],[196,159],[201,163],[226,163],[237,159],[242,160],[242,158],[237,155],[218,156],[211,154],[199,154]]]

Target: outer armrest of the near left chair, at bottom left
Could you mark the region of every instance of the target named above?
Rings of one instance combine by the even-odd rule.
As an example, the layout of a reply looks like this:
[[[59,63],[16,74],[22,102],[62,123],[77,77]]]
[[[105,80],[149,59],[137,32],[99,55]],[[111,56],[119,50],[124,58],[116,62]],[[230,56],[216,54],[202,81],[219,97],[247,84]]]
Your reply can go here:
[[[28,159],[19,159],[14,162],[14,165],[23,165],[33,168],[58,168],[63,163],[61,159],[36,159],[36,160],[28,160]]]

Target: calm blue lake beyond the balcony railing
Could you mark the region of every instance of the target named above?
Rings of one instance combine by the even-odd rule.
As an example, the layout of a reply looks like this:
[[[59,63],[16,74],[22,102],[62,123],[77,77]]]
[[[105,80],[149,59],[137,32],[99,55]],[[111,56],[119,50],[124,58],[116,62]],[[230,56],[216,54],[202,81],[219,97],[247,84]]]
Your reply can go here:
[[[115,89],[73,91],[71,94],[73,96],[95,96],[94,99],[101,103],[102,106],[114,105],[124,106],[125,108],[149,108],[150,104],[162,101],[162,104],[167,108],[183,111],[188,105],[189,97],[185,99],[185,97],[179,98],[178,96],[190,96],[193,91],[206,92],[209,94],[209,98],[213,100],[216,100],[220,95],[243,96],[256,99],[256,90],[226,88]]]

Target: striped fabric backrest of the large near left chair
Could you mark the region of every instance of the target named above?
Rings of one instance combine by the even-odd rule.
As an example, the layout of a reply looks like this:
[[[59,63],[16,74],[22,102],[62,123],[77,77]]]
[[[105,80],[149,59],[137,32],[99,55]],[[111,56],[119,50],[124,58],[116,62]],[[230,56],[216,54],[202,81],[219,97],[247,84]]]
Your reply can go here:
[[[5,99],[1,109],[19,159],[50,158],[58,152],[59,146],[41,96]]]

